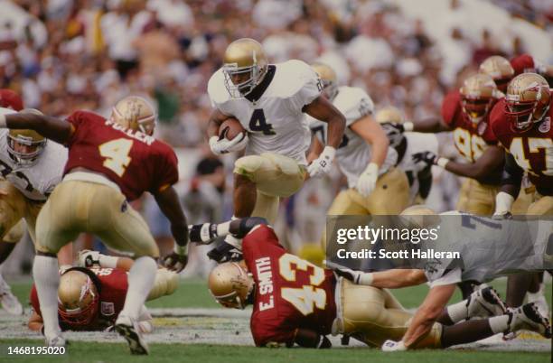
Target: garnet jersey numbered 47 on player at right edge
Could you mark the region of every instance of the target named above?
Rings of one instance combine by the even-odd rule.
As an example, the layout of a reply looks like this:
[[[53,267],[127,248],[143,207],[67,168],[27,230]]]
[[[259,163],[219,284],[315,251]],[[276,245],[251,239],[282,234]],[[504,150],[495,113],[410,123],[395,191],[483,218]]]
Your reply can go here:
[[[551,119],[553,107],[549,107],[539,124],[525,132],[513,131],[511,122],[505,115],[505,99],[501,99],[492,110],[490,125],[501,145],[512,154],[515,161],[530,181],[542,194],[553,192],[553,129]]]

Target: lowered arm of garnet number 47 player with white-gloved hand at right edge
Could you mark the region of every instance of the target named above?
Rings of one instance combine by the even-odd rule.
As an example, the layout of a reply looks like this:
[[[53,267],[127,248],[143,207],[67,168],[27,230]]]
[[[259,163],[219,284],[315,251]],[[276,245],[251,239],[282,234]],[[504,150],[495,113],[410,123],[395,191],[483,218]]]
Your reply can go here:
[[[517,164],[512,154],[505,153],[505,165],[501,174],[501,190],[495,196],[494,216],[505,216],[511,213],[512,203],[520,192],[523,175],[524,171]]]

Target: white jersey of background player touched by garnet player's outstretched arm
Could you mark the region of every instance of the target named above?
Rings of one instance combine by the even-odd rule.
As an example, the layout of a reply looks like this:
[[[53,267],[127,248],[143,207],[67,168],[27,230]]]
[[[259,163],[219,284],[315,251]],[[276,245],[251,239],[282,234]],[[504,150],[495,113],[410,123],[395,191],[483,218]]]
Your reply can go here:
[[[437,138],[434,134],[412,133],[403,134],[407,138],[407,149],[401,162],[398,163],[398,168],[408,175],[410,183],[409,202],[412,203],[417,197],[418,188],[420,186],[417,174],[426,167],[426,163],[413,162],[413,154],[430,151],[437,154]]]

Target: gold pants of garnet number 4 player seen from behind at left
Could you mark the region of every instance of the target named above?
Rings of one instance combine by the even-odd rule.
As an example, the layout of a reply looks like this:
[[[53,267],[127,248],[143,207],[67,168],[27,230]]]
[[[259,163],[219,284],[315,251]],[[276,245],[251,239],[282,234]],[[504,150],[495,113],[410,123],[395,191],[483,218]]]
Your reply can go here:
[[[36,248],[57,253],[81,232],[133,257],[159,256],[145,220],[120,191],[91,181],[61,181],[39,214]]]

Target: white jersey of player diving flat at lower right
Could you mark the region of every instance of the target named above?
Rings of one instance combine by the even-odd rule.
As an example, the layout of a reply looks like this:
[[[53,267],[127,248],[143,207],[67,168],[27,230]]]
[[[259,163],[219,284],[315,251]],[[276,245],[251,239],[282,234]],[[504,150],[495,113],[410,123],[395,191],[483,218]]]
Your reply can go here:
[[[502,219],[441,213],[436,250],[460,257],[430,258],[425,275],[432,285],[486,282],[518,271],[553,268],[553,219]],[[451,272],[452,275],[449,275]]]

